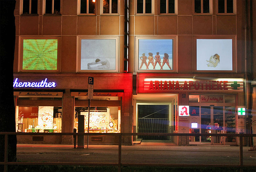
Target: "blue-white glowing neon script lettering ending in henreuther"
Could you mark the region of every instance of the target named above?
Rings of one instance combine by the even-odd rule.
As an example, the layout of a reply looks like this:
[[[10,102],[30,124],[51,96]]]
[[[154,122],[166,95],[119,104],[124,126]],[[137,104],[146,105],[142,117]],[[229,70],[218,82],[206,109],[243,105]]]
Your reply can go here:
[[[13,87],[56,87],[55,82],[47,82],[47,78],[41,82],[18,82],[18,78],[13,82]]]

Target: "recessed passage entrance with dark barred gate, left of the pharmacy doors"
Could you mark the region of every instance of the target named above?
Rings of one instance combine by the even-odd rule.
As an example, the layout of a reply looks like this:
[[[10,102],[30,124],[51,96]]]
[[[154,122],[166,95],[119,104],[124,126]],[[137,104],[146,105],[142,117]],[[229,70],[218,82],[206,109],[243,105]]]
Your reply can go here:
[[[178,94],[137,94],[133,96],[133,107],[136,133],[176,131]],[[174,136],[136,136],[136,139],[175,141]]]

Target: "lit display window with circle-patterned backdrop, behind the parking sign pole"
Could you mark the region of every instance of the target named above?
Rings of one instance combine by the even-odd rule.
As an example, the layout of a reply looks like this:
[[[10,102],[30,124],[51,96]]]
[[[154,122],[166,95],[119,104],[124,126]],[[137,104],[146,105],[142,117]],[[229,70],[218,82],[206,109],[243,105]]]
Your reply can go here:
[[[89,133],[120,133],[121,108],[120,107],[75,107],[74,128],[78,132],[78,116],[84,115],[84,132]]]

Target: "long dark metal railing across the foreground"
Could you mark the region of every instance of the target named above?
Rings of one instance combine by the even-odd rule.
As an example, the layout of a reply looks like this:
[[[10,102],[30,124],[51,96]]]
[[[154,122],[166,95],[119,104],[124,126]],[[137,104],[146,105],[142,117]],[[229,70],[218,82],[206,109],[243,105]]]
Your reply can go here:
[[[121,172],[123,166],[140,166],[140,167],[226,167],[226,168],[255,168],[255,165],[243,164],[243,137],[256,137],[256,134],[213,134],[213,133],[15,133],[15,132],[0,132],[0,135],[5,135],[4,144],[4,172],[7,172],[8,165],[83,165],[83,166],[117,166],[118,172]],[[89,135],[89,136],[118,136],[118,163],[92,163],[92,162],[8,162],[8,135]],[[213,165],[213,164],[142,164],[142,163],[122,163],[122,136],[230,136],[239,137],[239,165]]]

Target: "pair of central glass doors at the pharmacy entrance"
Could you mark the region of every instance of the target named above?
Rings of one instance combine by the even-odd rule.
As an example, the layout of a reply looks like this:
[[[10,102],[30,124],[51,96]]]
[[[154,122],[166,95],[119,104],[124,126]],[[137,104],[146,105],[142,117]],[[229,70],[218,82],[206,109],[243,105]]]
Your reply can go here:
[[[223,133],[223,106],[201,106],[201,133]],[[202,136],[203,144],[223,144],[220,136]]]

